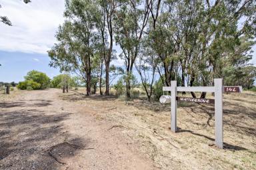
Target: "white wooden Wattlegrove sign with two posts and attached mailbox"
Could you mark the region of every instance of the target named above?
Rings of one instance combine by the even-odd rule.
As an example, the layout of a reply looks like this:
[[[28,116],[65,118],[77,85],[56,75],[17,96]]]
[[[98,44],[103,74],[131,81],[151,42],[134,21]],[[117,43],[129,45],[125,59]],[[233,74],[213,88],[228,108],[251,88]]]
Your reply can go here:
[[[177,81],[171,81],[171,86],[164,86],[163,91],[171,92],[171,96],[161,96],[161,103],[171,102],[171,131],[177,131],[177,100],[215,105],[215,145],[223,148],[223,92],[241,92],[240,86],[223,86],[222,78],[214,79],[214,86],[177,87]],[[213,99],[178,97],[177,92],[214,92]],[[170,100],[171,98],[171,100]]]

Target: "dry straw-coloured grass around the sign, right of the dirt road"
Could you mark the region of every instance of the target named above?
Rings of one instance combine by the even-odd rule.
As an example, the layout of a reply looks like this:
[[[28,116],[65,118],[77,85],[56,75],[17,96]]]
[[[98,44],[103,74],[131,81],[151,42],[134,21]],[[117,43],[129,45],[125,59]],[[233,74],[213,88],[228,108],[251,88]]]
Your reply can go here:
[[[256,169],[255,92],[224,95],[224,149],[213,145],[213,105],[179,103],[179,130],[172,133],[169,104],[140,99],[123,102],[114,97],[75,93],[61,94],[61,98],[94,110],[97,120],[125,127],[119,129],[140,145],[139,150],[154,161],[155,167]]]

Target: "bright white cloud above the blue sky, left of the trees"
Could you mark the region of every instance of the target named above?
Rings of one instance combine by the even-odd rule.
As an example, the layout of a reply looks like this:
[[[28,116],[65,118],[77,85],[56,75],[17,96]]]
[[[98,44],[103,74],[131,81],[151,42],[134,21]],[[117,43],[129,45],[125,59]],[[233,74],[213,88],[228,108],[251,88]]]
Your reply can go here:
[[[7,16],[13,26],[0,23],[0,50],[47,54],[64,21],[64,0],[3,0],[1,5],[0,16]]]

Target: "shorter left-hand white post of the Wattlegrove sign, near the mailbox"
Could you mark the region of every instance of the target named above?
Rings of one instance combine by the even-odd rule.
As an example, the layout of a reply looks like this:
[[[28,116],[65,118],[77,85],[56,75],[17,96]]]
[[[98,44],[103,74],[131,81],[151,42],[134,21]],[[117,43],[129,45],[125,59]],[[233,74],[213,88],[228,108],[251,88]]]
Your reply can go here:
[[[171,81],[171,131],[177,130],[177,81]]]

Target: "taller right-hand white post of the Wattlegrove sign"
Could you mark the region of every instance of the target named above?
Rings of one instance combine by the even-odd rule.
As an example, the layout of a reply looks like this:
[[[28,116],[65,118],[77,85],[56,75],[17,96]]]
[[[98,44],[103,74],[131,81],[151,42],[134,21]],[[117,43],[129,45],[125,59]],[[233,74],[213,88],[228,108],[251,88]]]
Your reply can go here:
[[[215,145],[223,148],[223,79],[214,79],[215,87]]]

